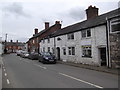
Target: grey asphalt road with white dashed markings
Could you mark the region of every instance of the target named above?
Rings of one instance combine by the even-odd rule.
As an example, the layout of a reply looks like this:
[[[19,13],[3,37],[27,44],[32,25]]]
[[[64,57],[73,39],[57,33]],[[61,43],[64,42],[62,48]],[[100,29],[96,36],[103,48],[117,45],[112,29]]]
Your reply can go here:
[[[118,76],[63,64],[3,56],[3,88],[118,88]]]

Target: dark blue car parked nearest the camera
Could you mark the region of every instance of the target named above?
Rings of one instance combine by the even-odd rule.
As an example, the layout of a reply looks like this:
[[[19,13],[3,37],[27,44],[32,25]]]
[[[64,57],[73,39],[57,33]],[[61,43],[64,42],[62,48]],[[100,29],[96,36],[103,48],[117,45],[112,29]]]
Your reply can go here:
[[[54,64],[56,63],[55,56],[50,52],[40,53],[38,60],[39,62],[42,62],[42,63],[54,63]]]

